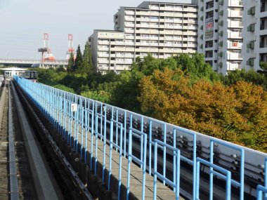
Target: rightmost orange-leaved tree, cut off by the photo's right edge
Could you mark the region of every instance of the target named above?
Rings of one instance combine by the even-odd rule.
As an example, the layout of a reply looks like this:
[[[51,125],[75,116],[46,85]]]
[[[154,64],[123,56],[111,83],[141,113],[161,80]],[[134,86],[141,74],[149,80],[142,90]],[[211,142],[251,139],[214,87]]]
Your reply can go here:
[[[242,121],[235,132],[247,147],[267,152],[267,93],[261,86],[238,81],[231,86],[240,102],[237,113]]]

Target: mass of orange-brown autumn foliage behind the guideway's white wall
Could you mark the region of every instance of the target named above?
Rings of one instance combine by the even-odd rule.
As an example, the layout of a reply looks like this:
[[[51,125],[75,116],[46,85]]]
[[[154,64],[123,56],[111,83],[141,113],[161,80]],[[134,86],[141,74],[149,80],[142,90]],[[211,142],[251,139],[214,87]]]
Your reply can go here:
[[[139,84],[142,112],[200,133],[267,151],[267,93],[238,81],[191,83],[181,69],[156,70]]]

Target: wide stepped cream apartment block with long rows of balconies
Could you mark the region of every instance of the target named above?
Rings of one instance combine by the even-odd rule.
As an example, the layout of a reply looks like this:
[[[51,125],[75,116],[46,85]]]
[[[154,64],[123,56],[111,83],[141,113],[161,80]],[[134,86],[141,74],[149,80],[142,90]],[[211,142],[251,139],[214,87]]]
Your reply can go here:
[[[140,56],[169,58],[197,51],[197,5],[144,1],[120,7],[115,30],[94,30],[89,37],[93,62],[99,72],[129,69]]]

